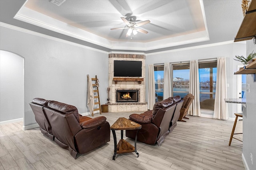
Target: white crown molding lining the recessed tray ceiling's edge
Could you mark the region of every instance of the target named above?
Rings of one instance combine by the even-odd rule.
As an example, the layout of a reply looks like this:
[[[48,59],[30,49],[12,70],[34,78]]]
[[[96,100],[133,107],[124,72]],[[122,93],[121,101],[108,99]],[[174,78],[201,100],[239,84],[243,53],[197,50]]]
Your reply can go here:
[[[206,30],[190,33],[188,35],[180,35],[178,37],[170,37],[162,40],[142,42],[127,42],[127,41],[111,41],[100,37],[83,29],[68,25],[62,21],[56,20],[25,6],[22,6],[18,13],[14,16],[15,19],[37,25],[51,31],[62,33],[70,37],[81,39],[83,41],[93,43],[112,50],[130,50],[130,51],[149,51],[166,47],[173,47],[189,43],[196,43],[209,40],[206,19],[204,14],[203,2],[200,0],[200,6],[204,18]],[[198,38],[199,37],[199,38]]]

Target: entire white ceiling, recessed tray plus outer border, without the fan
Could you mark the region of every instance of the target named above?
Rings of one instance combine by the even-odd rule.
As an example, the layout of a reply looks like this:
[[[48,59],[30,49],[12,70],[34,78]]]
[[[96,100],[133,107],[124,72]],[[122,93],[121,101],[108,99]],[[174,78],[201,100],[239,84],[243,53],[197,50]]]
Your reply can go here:
[[[58,7],[51,4],[50,0],[0,0],[0,26],[22,28],[106,52],[125,51],[147,54],[234,41],[243,20],[241,1],[66,0],[62,6]],[[143,5],[138,4],[142,2],[144,2]],[[201,9],[191,10],[188,14],[186,9],[199,8],[198,2]],[[76,5],[77,3],[79,5]],[[110,8],[112,10],[109,10]],[[202,13],[205,31],[200,31],[201,19],[193,17],[196,15],[194,12]],[[125,25],[120,17],[126,17],[126,14],[136,16],[136,20],[150,20],[150,23],[141,27],[149,33],[138,33],[131,40],[125,38],[122,30],[110,31],[110,28]],[[186,22],[182,23],[182,21]],[[198,32],[192,33],[195,27]],[[188,28],[191,32],[184,32]],[[98,32],[98,35],[92,31]],[[163,39],[155,41],[153,39],[160,37]]]

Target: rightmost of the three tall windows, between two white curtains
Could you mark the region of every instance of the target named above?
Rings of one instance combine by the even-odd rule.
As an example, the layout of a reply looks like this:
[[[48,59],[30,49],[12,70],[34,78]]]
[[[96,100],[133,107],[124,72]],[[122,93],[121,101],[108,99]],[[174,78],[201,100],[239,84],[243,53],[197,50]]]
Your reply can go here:
[[[217,61],[199,63],[199,86],[201,109],[214,110],[217,79]]]

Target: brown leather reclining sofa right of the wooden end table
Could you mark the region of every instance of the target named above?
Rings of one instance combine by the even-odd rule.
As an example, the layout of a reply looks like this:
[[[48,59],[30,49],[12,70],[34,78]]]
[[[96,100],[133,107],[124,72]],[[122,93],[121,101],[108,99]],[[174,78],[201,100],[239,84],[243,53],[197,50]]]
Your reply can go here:
[[[137,141],[160,145],[177,125],[183,100],[180,96],[170,97],[154,104],[153,110],[142,114],[131,114],[129,119],[142,125]],[[137,130],[126,130],[126,137],[135,139]]]

